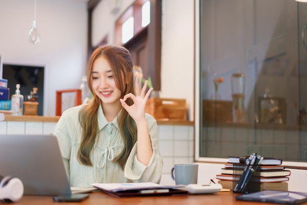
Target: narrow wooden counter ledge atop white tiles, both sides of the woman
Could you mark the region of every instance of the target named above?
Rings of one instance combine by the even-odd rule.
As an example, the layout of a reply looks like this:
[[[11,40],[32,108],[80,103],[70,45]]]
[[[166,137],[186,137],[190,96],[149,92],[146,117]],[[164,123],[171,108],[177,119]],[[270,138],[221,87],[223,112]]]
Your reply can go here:
[[[33,116],[33,115],[4,115],[5,121],[17,121],[17,122],[57,122],[60,116],[45,117],[45,116]],[[179,126],[194,126],[193,121],[169,121],[159,120],[158,125],[179,125]]]

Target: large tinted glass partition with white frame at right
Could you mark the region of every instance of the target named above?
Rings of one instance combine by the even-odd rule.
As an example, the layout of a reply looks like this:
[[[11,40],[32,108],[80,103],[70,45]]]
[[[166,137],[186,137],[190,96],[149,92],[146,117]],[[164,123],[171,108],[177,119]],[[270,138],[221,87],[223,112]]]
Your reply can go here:
[[[197,160],[307,161],[307,3],[197,4]]]

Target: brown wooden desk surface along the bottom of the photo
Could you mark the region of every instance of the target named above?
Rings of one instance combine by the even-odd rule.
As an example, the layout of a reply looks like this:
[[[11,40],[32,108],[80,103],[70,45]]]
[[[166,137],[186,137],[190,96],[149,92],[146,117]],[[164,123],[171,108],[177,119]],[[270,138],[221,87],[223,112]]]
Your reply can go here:
[[[102,192],[94,192],[83,202],[56,203],[53,202],[52,197],[28,195],[23,196],[14,205],[273,205],[270,203],[236,201],[235,195],[232,192],[219,192],[206,195],[116,198]],[[304,203],[304,205],[307,205],[307,203]]]

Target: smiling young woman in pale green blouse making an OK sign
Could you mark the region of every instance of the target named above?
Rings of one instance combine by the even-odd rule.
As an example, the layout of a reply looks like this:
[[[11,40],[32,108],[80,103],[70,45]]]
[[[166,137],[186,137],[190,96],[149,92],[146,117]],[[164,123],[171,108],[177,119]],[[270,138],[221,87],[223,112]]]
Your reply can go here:
[[[155,182],[161,179],[155,119],[145,113],[152,91],[134,82],[127,49],[102,46],[87,68],[93,98],[63,112],[57,136],[71,186],[91,183]],[[138,82],[138,78],[136,78]]]

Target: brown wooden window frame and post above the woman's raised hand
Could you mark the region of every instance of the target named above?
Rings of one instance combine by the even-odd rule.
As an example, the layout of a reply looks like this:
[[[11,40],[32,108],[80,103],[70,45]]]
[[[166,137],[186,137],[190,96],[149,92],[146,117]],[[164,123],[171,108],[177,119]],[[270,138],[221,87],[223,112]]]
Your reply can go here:
[[[151,76],[154,90],[161,89],[161,19],[162,19],[162,0],[150,1],[150,23],[142,27],[142,5],[147,0],[135,0],[130,7],[118,18],[115,23],[115,44],[127,48],[132,52],[134,44],[140,39],[146,38],[148,47],[148,62],[146,71]],[[131,9],[132,12],[129,10]],[[129,10],[129,11],[128,11]],[[121,24],[128,19],[128,12],[134,15],[134,36],[125,44],[121,43]],[[138,26],[136,26],[138,25]],[[144,77],[147,79],[148,76]]]

